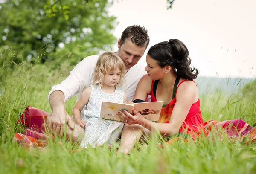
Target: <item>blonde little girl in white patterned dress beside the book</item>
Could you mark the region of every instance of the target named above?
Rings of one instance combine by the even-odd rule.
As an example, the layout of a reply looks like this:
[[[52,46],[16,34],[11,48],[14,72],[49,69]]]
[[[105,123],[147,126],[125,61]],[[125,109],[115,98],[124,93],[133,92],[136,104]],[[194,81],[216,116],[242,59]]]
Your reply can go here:
[[[94,148],[107,142],[111,133],[123,124],[99,120],[102,101],[123,103],[127,95],[118,87],[122,85],[126,67],[122,59],[113,52],[105,52],[99,56],[94,70],[93,85],[87,87],[73,107],[75,122],[85,128],[85,136],[81,147],[90,144]],[[81,119],[81,110],[84,118]]]

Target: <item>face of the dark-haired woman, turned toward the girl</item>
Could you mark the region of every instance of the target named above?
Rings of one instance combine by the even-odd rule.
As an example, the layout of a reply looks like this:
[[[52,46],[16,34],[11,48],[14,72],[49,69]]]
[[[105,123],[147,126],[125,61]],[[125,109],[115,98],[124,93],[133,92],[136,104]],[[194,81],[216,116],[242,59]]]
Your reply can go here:
[[[145,71],[147,71],[150,80],[162,79],[164,70],[157,64],[157,61],[147,55],[146,62],[147,66],[145,67]]]

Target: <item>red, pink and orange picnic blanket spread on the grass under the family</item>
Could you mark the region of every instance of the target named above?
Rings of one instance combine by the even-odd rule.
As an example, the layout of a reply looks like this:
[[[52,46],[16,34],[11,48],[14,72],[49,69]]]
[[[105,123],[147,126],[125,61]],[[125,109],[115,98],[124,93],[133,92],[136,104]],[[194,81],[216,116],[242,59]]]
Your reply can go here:
[[[38,148],[38,150],[44,151],[48,140],[50,138],[54,139],[52,135],[47,135],[43,131],[43,123],[46,121],[48,115],[49,113],[35,107],[26,107],[17,120],[17,124],[25,125],[26,129],[23,133],[15,133],[13,141],[18,142],[19,145],[24,146],[28,150]],[[209,120],[204,122],[204,128],[207,132],[206,136],[209,135],[209,132],[213,131],[219,133],[217,137],[220,139],[224,139],[224,136],[227,136],[230,141],[239,141],[245,144],[256,141],[256,129],[242,119],[226,121]],[[166,143],[172,144],[174,141],[180,140],[185,142],[192,141],[184,138],[173,138]],[[163,144],[160,146],[163,146]]]

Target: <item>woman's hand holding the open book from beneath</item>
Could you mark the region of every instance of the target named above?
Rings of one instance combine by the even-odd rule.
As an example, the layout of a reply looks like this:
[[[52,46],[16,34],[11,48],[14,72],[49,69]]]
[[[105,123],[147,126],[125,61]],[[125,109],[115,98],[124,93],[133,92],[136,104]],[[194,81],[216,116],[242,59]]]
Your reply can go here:
[[[120,116],[122,122],[125,122],[128,125],[140,125],[142,120],[145,118],[134,109],[132,110],[132,112],[134,115],[131,115],[126,110],[123,110],[122,112],[118,111],[117,115]]]

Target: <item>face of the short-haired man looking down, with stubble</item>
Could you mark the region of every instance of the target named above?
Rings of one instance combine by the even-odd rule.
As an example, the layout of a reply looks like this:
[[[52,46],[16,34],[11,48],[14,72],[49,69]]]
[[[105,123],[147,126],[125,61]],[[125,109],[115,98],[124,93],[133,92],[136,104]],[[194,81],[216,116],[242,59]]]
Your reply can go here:
[[[125,43],[122,45],[119,39],[118,48],[118,55],[125,62],[125,67],[127,68],[127,70],[137,64],[146,49],[146,47],[133,44],[130,39],[126,39]]]

